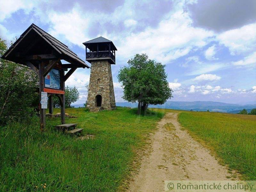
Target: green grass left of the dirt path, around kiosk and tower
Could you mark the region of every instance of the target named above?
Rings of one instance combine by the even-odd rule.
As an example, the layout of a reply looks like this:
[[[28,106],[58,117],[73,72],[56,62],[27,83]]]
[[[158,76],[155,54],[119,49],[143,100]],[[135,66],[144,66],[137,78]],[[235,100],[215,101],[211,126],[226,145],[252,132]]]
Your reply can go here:
[[[43,133],[37,117],[0,127],[0,191],[116,191],[132,168],[135,151],[164,113],[84,110],[67,109],[78,118],[66,118],[66,123],[78,123],[82,134],[95,139],[77,140],[55,131],[60,118],[47,118]]]

